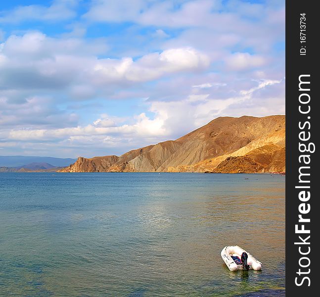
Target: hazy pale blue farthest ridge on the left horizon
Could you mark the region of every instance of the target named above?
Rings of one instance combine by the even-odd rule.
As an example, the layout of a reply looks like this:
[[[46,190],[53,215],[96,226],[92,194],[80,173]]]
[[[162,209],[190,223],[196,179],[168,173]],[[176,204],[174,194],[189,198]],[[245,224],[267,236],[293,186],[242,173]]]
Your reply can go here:
[[[53,167],[64,167],[77,159],[37,157],[37,156],[0,156],[0,167],[23,167],[25,164],[47,163]]]

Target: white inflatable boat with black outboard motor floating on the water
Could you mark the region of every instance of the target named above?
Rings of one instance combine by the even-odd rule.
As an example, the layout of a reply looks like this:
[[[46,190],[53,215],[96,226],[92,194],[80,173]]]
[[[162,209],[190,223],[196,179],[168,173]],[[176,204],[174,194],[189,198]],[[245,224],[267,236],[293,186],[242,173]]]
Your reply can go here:
[[[262,263],[238,246],[224,247],[221,256],[229,270],[261,270]]]

